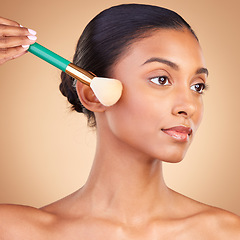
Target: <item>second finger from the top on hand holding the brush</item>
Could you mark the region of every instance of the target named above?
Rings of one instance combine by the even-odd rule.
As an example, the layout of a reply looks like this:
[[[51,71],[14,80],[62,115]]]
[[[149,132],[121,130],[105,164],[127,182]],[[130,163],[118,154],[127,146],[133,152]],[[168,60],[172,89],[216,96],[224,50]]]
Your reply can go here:
[[[36,35],[36,32],[32,29],[25,27],[16,27],[0,24],[0,37],[5,36],[29,36]]]

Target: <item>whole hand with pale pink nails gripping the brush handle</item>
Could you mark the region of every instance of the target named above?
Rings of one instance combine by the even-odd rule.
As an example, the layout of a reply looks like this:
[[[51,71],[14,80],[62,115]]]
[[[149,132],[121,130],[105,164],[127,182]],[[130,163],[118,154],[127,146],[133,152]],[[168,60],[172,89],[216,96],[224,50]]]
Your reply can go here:
[[[0,17],[0,65],[25,54],[36,41],[35,35],[34,30]]]

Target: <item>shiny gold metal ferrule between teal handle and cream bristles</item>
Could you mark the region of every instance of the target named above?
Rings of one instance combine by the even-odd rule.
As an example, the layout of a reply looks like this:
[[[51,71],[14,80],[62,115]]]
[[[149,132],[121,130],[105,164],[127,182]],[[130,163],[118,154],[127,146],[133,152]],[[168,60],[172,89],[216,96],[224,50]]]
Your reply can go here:
[[[76,80],[90,86],[91,80],[96,77],[93,73],[88,72],[73,63],[69,63],[65,72]]]

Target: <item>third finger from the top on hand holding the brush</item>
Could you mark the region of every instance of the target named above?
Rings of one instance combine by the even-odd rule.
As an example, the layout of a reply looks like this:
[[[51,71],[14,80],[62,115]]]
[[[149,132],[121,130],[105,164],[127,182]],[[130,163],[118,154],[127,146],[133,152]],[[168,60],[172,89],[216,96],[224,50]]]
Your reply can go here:
[[[36,36],[26,37],[0,37],[0,49],[30,45],[37,40]]]

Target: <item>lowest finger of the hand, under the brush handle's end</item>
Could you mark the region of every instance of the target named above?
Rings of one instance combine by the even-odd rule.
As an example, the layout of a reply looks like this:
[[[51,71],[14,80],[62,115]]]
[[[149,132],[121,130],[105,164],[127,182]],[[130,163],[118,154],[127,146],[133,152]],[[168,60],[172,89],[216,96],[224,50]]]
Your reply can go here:
[[[26,49],[20,46],[15,48],[0,49],[0,64],[20,57],[25,53],[27,53]]]

